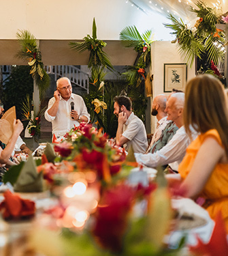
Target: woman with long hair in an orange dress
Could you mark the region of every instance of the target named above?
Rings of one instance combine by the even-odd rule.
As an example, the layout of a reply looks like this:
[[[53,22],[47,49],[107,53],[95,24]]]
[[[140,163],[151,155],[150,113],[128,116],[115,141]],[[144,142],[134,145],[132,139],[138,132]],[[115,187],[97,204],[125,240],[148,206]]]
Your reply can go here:
[[[199,136],[179,165],[181,188],[186,196],[203,197],[203,208],[212,218],[222,213],[228,232],[228,104],[222,83],[203,74],[186,85],[184,126]]]

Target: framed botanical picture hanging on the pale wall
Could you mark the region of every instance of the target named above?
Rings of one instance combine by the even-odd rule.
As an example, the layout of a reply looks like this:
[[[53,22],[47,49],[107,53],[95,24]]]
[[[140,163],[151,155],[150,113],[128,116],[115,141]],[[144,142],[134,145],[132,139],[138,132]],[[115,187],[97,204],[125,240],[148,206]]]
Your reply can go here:
[[[186,63],[164,64],[164,92],[172,92],[172,89],[184,91],[186,79]]]

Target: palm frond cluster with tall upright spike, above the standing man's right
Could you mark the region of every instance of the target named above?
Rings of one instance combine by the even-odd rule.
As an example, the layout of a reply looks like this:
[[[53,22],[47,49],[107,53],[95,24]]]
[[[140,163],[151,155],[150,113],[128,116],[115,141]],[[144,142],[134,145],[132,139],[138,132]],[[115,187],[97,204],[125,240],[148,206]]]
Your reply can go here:
[[[94,68],[95,66],[103,66],[113,71],[114,67],[108,58],[108,55],[103,51],[103,47],[106,43],[97,39],[97,26],[95,18],[93,18],[93,36],[87,35],[83,38],[83,42],[70,42],[69,46],[73,51],[83,53],[89,51],[88,68]]]

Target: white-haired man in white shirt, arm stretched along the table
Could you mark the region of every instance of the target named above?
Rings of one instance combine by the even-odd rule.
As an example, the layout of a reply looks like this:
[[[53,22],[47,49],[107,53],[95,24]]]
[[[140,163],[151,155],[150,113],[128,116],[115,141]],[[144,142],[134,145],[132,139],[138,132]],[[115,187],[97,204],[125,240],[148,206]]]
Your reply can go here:
[[[161,150],[153,154],[135,154],[135,158],[137,162],[148,167],[169,165],[174,171],[177,171],[178,165],[186,153],[186,147],[191,142],[184,129],[184,93],[172,94],[166,103],[165,111],[167,119],[172,120],[179,128],[176,134]],[[193,137],[195,136],[196,134],[193,135]]]

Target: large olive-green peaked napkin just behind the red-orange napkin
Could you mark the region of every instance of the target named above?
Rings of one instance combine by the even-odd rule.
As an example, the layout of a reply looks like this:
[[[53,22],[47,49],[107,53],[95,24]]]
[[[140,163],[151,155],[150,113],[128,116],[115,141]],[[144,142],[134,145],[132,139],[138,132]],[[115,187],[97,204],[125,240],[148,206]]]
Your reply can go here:
[[[14,184],[14,191],[18,192],[42,192],[43,191],[43,173],[37,172],[33,156],[29,156],[25,165],[23,165],[20,174]]]

